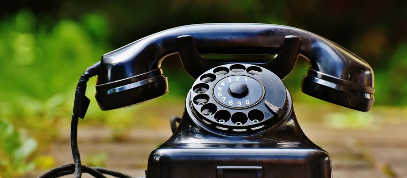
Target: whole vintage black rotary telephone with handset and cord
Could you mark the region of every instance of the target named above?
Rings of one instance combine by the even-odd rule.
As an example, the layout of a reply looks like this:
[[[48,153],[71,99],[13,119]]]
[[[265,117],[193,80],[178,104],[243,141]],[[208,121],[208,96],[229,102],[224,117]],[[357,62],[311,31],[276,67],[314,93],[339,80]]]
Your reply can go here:
[[[75,126],[89,104],[86,81],[98,76],[96,99],[102,110],[139,104],[168,92],[160,66],[177,52],[196,81],[178,128],[150,154],[147,177],[331,177],[328,153],[302,132],[281,81],[298,55],[309,63],[303,93],[359,111],[368,111],[374,102],[370,66],[302,29],[253,23],[171,28],[104,54],[83,73],[72,117],[75,165],[66,166],[65,174],[111,174],[80,164]],[[268,62],[237,62],[201,54],[277,55]]]

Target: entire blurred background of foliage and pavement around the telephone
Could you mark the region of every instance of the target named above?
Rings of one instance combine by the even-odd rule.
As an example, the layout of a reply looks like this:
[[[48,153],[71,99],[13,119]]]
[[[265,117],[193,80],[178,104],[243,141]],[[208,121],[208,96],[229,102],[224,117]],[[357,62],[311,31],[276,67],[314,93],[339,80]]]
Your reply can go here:
[[[308,68],[303,59],[284,84],[304,132],[331,153],[335,177],[346,177],[347,172],[403,176],[397,165],[407,166],[405,157],[392,165],[394,160],[376,153],[389,147],[392,153],[407,151],[401,132],[407,126],[406,1],[16,0],[0,6],[0,177],[35,177],[73,162],[68,134],[75,86],[102,54],[164,29],[215,22],[294,26],[362,57],[375,74],[370,112],[302,94],[301,77]],[[182,115],[193,83],[178,56],[167,58],[163,70],[169,94],[112,111],[98,108],[93,98],[96,79],[91,79],[86,92],[91,105],[79,123],[82,162],[142,173],[148,153],[170,135],[169,117]],[[360,137],[362,133],[368,133],[371,142],[364,142],[367,136]],[[338,143],[345,151],[335,150],[338,145],[330,141],[340,138],[346,138]]]

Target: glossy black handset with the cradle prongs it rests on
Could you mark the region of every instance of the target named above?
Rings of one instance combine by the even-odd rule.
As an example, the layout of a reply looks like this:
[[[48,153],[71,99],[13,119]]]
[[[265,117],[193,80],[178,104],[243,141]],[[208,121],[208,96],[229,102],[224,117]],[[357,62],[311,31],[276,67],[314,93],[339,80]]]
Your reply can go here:
[[[323,37],[282,25],[215,23],[171,28],[104,54],[97,84],[99,105],[103,110],[115,109],[158,97],[158,93],[165,94],[168,91],[166,79],[136,83],[124,88],[126,90],[117,90],[117,87],[163,75],[153,74],[153,71],[160,69],[163,58],[187,49],[196,49],[191,55],[180,53],[184,67],[193,77],[215,66],[232,63],[198,61],[197,51],[201,54],[278,53],[281,55],[267,64],[250,59],[244,63],[263,66],[280,78],[284,78],[292,69],[295,63],[293,58],[299,52],[310,65],[302,82],[305,94],[361,111],[368,111],[374,102],[370,66],[352,52]],[[129,93],[133,95],[126,97]]]

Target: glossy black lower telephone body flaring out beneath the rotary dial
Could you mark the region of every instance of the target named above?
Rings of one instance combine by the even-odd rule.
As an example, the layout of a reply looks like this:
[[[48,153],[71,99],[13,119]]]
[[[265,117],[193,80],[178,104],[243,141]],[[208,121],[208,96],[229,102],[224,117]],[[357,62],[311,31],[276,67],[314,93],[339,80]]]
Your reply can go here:
[[[178,129],[150,154],[147,177],[331,177],[328,153],[302,132],[288,98],[278,123],[236,135],[202,124],[188,95]]]

